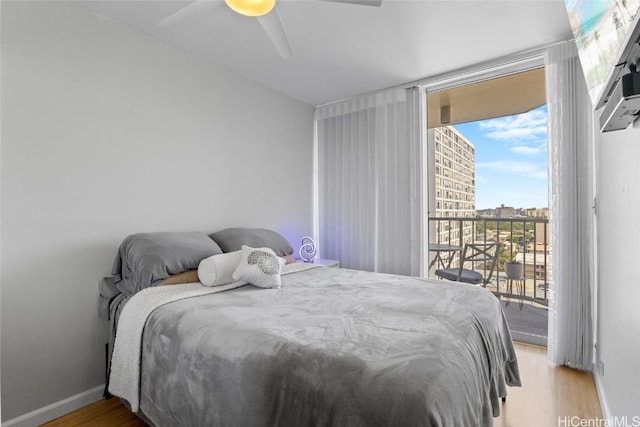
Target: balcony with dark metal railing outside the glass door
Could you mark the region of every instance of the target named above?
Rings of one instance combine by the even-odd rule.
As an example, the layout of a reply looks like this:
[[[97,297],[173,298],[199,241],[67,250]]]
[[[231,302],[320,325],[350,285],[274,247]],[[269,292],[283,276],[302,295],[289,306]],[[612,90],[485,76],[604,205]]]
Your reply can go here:
[[[487,289],[502,301],[515,339],[546,345],[549,306],[549,222],[543,218],[429,218],[431,243],[464,247],[500,242],[500,254]],[[430,261],[435,253],[430,252]],[[459,266],[460,251],[441,252],[445,265]],[[507,278],[505,264],[523,264],[523,281]],[[434,265],[429,276],[435,278]],[[465,265],[486,276],[485,265]]]

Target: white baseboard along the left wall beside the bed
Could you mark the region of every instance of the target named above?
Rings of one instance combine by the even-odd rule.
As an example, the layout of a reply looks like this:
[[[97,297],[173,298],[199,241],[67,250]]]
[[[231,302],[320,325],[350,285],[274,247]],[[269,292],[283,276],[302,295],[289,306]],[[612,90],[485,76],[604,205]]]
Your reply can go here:
[[[44,424],[47,421],[54,420],[76,409],[99,401],[102,399],[103,391],[104,384],[52,403],[51,405],[36,409],[35,411],[20,415],[19,417],[2,423],[2,427],[33,427]]]

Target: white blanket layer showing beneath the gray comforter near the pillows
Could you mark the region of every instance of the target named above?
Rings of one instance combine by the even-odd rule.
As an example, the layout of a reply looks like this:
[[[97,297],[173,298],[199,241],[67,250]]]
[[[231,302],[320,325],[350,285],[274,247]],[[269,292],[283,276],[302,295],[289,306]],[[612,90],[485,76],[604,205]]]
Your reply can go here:
[[[282,274],[294,273],[319,267],[318,264],[295,263],[286,265]],[[125,304],[116,332],[111,356],[109,393],[129,402],[131,410],[138,412],[140,406],[140,356],[142,332],[147,318],[158,307],[170,302],[192,298],[245,286],[237,281],[228,285],[206,287],[200,282],[180,285],[157,286],[143,289]]]

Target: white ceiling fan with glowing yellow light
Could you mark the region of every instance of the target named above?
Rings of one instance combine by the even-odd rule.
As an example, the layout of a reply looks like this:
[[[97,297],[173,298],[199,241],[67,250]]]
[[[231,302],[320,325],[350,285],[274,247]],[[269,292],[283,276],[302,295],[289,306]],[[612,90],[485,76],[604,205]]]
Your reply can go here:
[[[277,0],[195,0],[187,6],[178,9],[176,12],[158,22],[163,28],[172,27],[192,16],[210,11],[222,3],[226,3],[233,11],[255,17],[276,50],[283,58],[293,55],[293,49],[287,32],[284,29],[280,15],[278,14]],[[379,7],[382,0],[322,0],[335,3],[351,3],[364,6]]]

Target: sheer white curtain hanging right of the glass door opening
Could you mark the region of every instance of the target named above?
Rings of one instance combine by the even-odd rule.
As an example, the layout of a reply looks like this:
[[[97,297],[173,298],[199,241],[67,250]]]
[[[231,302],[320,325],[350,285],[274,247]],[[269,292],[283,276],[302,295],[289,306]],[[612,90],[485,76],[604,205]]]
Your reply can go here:
[[[551,284],[549,359],[591,370],[593,111],[573,41],[546,53]]]

